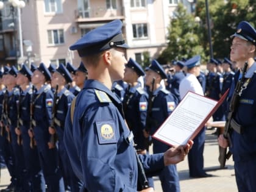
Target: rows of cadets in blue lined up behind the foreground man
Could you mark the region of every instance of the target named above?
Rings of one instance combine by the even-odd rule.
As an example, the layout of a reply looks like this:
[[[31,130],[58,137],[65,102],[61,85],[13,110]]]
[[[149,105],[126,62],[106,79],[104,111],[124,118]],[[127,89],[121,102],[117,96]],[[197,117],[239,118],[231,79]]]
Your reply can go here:
[[[112,91],[123,101],[124,115],[135,135],[138,153],[165,152],[169,146],[151,138],[180,101],[179,84],[186,76],[185,60],[173,62],[165,69],[152,60],[143,71],[130,59],[124,80],[115,82]],[[197,77],[205,96],[218,100],[230,88],[235,66],[229,59],[211,59],[207,72]],[[143,80],[138,81],[139,77]],[[10,185],[2,191],[79,191],[82,183],[71,169],[63,143],[65,115],[73,98],[83,88],[87,69],[67,63],[58,68],[41,63],[4,66],[0,74],[0,147],[10,173]],[[164,80],[164,84],[162,84]],[[213,115],[225,120],[227,103]],[[180,191],[176,165],[160,174],[163,191]],[[152,177],[148,177],[154,187]]]

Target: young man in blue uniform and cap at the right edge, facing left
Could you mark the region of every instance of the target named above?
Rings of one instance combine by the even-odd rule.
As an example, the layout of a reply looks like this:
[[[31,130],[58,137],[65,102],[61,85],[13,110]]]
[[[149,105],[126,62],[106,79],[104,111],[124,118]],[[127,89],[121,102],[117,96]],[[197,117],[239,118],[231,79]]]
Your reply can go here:
[[[219,144],[222,148],[229,146],[233,154],[238,191],[252,192],[256,189],[256,30],[247,21],[241,21],[232,37],[230,59],[238,68],[243,68],[245,62],[248,62],[248,67],[238,107],[233,113],[233,121],[237,125],[232,124],[231,143],[220,135]],[[241,71],[238,70],[233,83],[236,84],[240,78]]]

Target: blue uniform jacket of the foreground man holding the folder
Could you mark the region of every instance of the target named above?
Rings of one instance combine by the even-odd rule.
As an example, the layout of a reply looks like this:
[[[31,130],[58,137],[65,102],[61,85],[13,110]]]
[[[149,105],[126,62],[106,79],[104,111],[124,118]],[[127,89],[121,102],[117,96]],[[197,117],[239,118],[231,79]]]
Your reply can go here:
[[[71,165],[88,191],[136,191],[137,162],[121,101],[96,80],[87,80],[76,99],[73,126],[70,110],[65,146]],[[146,171],[163,168],[163,155],[144,155]],[[154,168],[150,169],[150,165]]]

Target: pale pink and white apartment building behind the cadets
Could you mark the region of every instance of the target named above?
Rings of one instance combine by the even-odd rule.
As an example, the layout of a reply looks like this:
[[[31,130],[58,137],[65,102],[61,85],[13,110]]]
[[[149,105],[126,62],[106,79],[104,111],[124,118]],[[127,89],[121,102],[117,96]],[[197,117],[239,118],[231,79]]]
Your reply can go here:
[[[68,47],[91,29],[116,19],[123,21],[124,37],[130,46],[127,59],[132,57],[141,62],[145,53],[157,58],[166,46],[169,19],[180,1],[26,0],[20,12],[19,33],[18,27],[10,25],[18,26],[19,15],[5,0],[5,9],[9,6],[12,14],[11,18],[0,16],[0,62],[2,65],[13,65],[17,60],[37,65],[70,62],[78,66],[77,52],[69,51]],[[188,0],[182,3],[190,7]],[[23,49],[23,57],[19,48]]]

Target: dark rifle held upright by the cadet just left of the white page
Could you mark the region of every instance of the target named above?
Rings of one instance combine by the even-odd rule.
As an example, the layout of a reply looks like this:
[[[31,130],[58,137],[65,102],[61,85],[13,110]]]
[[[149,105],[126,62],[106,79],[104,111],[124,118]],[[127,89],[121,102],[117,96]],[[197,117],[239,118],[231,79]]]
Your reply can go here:
[[[153,106],[153,101],[154,101],[154,85],[155,85],[155,77],[152,80],[152,87],[151,90],[149,91],[149,102],[148,102],[148,108],[147,108],[147,116],[146,116],[146,125],[145,125],[145,130],[146,132],[150,133],[151,131],[151,123],[152,123],[152,106]],[[149,141],[149,138],[146,138],[145,140],[145,145],[146,149],[149,149],[149,146],[151,145],[151,141]]]

